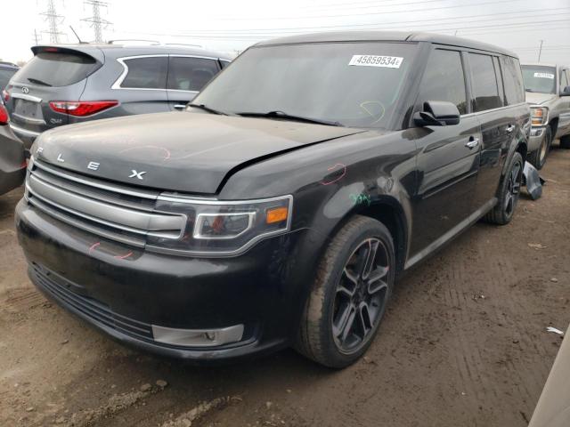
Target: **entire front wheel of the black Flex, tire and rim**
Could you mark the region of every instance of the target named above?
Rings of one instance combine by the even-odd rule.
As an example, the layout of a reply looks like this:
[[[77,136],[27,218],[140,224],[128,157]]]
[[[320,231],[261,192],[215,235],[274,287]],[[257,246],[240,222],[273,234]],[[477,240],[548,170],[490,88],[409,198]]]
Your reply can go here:
[[[392,293],[395,250],[378,221],[356,216],[319,262],[297,350],[327,367],[346,367],[370,347]]]

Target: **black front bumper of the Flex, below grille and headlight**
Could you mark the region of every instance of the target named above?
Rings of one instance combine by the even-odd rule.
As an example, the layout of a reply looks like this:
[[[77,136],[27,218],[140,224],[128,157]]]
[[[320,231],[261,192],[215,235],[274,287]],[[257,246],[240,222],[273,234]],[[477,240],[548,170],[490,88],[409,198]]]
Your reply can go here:
[[[120,342],[180,359],[240,359],[289,345],[311,283],[312,260],[288,265],[302,232],[267,239],[239,257],[197,259],[103,241],[24,199],[16,226],[29,277],[42,292]],[[158,342],[152,331],[234,325],[244,325],[240,342],[208,348]]]

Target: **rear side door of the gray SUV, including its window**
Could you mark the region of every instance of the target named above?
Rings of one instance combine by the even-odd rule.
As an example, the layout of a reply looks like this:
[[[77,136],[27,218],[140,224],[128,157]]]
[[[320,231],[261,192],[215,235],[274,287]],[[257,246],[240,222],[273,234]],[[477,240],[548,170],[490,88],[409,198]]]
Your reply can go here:
[[[183,109],[219,71],[217,58],[170,55],[167,78],[170,109]]]

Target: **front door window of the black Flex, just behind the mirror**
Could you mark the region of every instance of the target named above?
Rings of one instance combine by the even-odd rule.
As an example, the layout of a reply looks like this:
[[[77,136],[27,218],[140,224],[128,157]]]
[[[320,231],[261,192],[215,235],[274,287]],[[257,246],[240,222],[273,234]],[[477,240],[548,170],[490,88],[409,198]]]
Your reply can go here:
[[[431,53],[421,79],[418,101],[422,104],[426,101],[450,101],[460,110],[460,114],[467,113],[460,52],[436,49]]]

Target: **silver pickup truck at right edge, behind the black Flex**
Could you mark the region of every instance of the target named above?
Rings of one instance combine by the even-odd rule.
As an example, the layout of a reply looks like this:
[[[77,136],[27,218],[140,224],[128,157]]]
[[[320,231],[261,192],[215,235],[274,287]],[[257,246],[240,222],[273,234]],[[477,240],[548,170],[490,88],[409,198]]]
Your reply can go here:
[[[560,146],[570,149],[570,67],[522,64],[521,68],[533,124],[527,158],[541,169],[553,140],[560,138]]]

